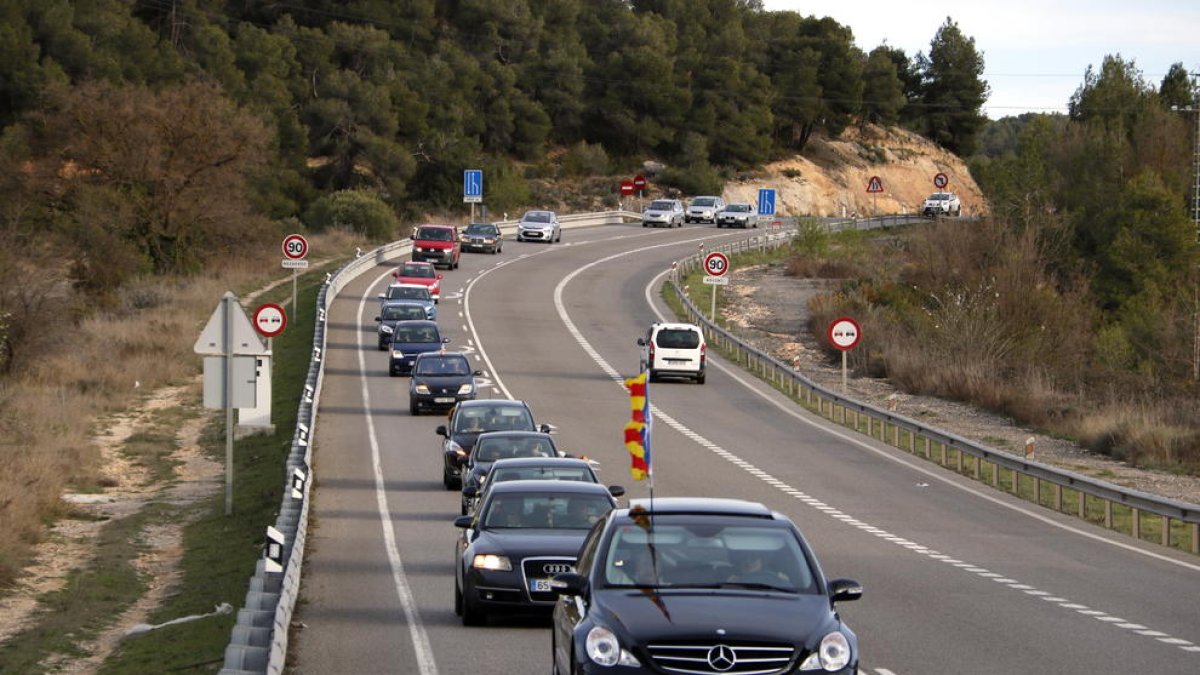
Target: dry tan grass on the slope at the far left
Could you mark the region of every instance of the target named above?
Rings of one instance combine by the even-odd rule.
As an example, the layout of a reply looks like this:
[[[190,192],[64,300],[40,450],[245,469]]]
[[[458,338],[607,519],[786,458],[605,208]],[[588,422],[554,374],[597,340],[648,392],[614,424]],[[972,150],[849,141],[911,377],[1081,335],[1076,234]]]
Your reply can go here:
[[[367,244],[344,232],[311,237],[312,257],[344,257]],[[194,377],[192,346],[226,291],[240,297],[290,273],[270,249],[186,279],[144,279],[112,310],[55,327],[53,351],[0,380],[0,587],[10,585],[46,525],[65,513],[65,491],[103,478],[92,438],[107,414]]]

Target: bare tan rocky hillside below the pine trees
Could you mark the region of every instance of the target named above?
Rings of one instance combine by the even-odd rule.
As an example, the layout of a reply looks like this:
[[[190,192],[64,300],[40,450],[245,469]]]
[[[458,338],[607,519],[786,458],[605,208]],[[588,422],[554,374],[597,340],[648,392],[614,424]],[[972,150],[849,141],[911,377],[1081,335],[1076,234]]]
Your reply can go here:
[[[947,190],[962,201],[962,215],[983,215],[983,192],[958,156],[916,133],[868,125],[840,138],[814,136],[803,156],[767,165],[725,186],[727,202],[757,201],[760,187],[776,190],[776,211],[790,216],[912,214],[934,192],[934,177],[949,178]],[[877,175],[883,192],[866,185]]]

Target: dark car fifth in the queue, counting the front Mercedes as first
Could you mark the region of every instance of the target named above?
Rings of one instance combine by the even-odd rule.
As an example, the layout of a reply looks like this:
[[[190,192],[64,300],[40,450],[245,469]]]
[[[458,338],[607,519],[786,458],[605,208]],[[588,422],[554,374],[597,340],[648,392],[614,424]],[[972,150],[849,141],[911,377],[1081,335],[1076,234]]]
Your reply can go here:
[[[475,399],[463,401],[450,411],[450,423],[437,428],[442,436],[442,484],[446,490],[462,488],[462,467],[467,464],[475,438],[485,431],[541,431],[553,426],[535,425],[533,411],[524,401],[510,399]]]

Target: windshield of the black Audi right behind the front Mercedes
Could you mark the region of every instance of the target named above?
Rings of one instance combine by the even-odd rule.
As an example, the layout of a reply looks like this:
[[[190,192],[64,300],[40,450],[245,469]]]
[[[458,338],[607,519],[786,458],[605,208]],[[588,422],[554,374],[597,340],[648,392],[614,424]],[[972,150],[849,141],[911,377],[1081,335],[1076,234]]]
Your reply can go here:
[[[587,530],[612,510],[604,495],[538,492],[494,495],[480,516],[485,530]]]

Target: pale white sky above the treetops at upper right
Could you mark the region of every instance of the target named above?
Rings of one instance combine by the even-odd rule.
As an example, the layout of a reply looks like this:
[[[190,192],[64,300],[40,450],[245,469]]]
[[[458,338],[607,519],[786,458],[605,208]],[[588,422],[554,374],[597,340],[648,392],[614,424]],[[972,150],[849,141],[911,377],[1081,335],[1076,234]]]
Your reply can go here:
[[[1200,72],[1200,0],[763,0],[768,11],[832,17],[854,44],[881,43],[910,58],[950,17],[983,54],[991,119],[1025,112],[1067,112],[1088,65],[1106,55],[1132,60],[1157,89],[1171,64]]]

